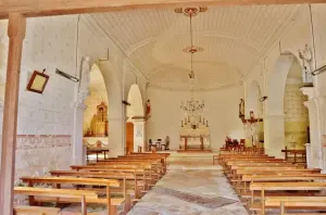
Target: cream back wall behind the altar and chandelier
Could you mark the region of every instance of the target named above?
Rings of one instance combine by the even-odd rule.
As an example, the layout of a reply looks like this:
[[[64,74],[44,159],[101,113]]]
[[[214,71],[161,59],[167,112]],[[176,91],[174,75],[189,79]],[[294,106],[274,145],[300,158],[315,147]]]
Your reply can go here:
[[[211,128],[213,149],[224,144],[225,137],[244,138],[243,126],[239,119],[239,100],[241,87],[225,88],[216,91],[201,91],[196,98],[205,102],[204,117]],[[151,100],[151,117],[147,123],[148,139],[164,139],[171,137],[171,149],[178,149],[179,128],[184,113],[180,102],[190,99],[188,91],[167,91],[148,88],[148,99]],[[148,140],[147,140],[148,141]]]

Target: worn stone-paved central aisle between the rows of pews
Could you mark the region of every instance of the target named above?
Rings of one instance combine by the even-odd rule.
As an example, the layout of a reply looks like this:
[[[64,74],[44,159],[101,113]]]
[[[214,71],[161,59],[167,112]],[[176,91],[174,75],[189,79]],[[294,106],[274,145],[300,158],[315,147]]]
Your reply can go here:
[[[128,215],[247,215],[221,167],[211,163],[211,155],[172,156],[168,173]]]

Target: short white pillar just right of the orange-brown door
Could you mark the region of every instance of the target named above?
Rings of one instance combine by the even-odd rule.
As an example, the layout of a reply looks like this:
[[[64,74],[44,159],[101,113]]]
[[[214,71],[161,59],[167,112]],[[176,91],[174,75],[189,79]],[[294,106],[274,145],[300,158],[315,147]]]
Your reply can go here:
[[[146,121],[143,117],[133,117],[134,123],[134,152],[138,151],[138,147],[141,147],[142,152],[145,149],[145,130],[146,130]]]

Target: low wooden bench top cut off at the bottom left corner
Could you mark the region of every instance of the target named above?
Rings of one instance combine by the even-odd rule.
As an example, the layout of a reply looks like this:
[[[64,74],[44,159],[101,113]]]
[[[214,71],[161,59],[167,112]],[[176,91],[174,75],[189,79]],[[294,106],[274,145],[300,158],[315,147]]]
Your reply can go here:
[[[28,206],[28,205],[15,205],[14,215],[38,214],[38,215],[58,215],[60,208],[48,206]]]

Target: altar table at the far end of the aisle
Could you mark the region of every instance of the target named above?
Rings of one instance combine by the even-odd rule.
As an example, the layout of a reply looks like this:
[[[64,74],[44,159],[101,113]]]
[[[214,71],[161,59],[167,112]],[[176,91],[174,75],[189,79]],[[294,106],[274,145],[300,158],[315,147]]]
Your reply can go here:
[[[189,125],[189,124],[188,124]],[[181,151],[211,151],[210,127],[200,124],[193,129],[187,125],[179,130],[179,152]]]

